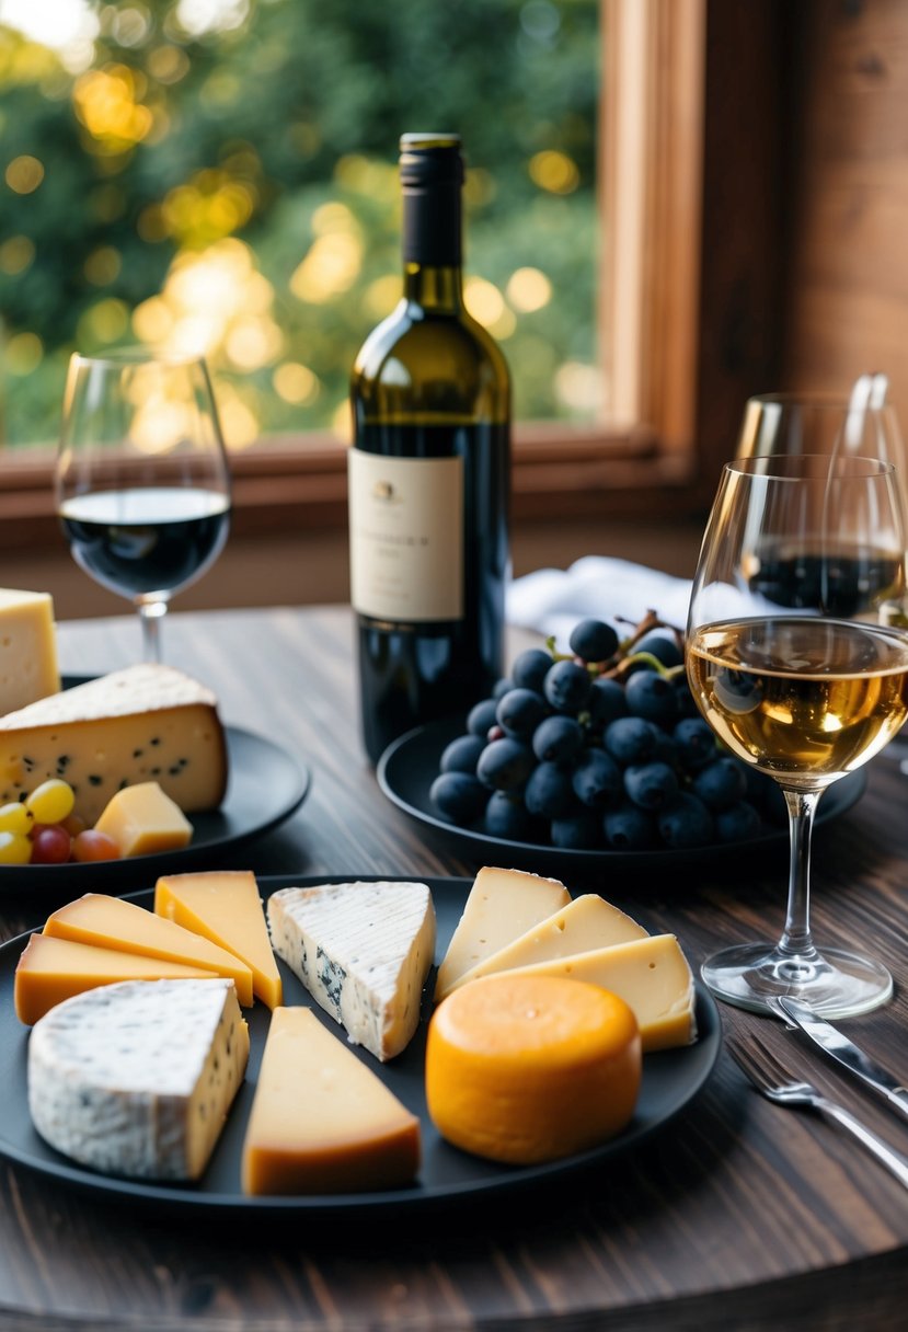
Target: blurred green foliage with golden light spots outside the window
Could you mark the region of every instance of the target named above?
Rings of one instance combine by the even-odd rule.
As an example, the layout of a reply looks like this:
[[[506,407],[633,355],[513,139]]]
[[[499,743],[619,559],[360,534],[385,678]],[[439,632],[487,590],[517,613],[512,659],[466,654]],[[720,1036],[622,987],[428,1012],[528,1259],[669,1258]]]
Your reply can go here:
[[[522,420],[588,414],[598,0],[120,0],[91,60],[0,27],[0,420],[73,349],[209,356],[225,433],[343,429],[399,294],[397,143],[458,131],[469,302]],[[194,21],[208,13],[208,27]]]

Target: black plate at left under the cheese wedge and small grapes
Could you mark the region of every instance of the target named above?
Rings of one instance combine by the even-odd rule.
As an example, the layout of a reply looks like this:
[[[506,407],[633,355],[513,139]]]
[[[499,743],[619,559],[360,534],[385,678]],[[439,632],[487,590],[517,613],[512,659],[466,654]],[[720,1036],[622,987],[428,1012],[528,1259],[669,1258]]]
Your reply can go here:
[[[109,892],[136,879],[150,882],[176,874],[198,860],[209,864],[217,852],[233,850],[288,819],[309,794],[305,765],[262,735],[224,727],[229,778],[224,802],[210,814],[190,814],[192,842],[181,851],[130,855],[122,860],[76,864],[0,864],[0,891]]]

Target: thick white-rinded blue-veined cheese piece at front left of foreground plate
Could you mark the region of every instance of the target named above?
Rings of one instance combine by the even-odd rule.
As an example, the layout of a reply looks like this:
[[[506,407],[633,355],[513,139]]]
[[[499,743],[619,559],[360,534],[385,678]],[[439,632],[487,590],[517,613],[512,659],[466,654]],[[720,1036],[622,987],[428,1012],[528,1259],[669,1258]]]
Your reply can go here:
[[[39,1022],[28,1108],[52,1147],[136,1179],[198,1179],[249,1058],[233,982],[134,980]]]

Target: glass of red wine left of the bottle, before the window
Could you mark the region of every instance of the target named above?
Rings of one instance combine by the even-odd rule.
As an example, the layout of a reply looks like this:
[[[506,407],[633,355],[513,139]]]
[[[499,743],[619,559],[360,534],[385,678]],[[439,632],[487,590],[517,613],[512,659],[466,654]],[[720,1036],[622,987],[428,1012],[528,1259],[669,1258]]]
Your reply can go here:
[[[132,599],[144,658],[160,661],[170,597],[217,559],[230,522],[230,472],[204,360],[73,356],[56,502],[76,563]]]

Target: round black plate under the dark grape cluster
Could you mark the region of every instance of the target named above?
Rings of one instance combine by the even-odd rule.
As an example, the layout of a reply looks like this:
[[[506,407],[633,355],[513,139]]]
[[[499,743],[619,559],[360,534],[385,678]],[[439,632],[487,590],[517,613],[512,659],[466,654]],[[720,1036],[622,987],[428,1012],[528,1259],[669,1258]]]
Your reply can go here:
[[[787,829],[771,829],[742,842],[715,842],[678,851],[668,847],[651,851],[566,851],[550,843],[509,842],[475,826],[458,827],[435,810],[429,799],[429,790],[438,777],[438,762],[445,746],[462,734],[463,721],[457,717],[418,726],[387,746],[378,761],[375,777],[385,795],[399,810],[423,827],[433,829],[458,855],[478,864],[499,864],[506,856],[513,868],[566,879],[570,874],[595,874],[602,870],[671,871],[682,864],[788,844]],[[835,782],[820,801],[816,822],[824,823],[844,814],[860,799],[865,787],[867,774],[863,769]]]

